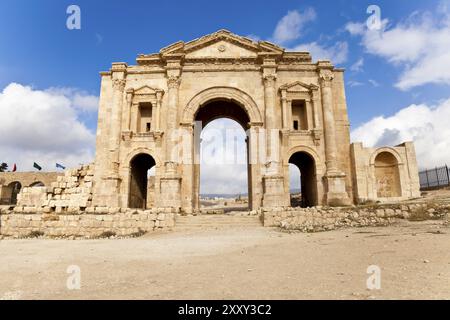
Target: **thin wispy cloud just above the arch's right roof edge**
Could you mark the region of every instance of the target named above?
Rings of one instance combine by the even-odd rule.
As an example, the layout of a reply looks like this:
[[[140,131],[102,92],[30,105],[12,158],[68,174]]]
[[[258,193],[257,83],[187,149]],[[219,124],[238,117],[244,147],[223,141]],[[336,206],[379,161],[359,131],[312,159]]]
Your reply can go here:
[[[336,42],[332,46],[322,46],[317,42],[300,44],[293,51],[308,51],[314,60],[330,60],[335,64],[344,63],[348,57],[348,43]]]

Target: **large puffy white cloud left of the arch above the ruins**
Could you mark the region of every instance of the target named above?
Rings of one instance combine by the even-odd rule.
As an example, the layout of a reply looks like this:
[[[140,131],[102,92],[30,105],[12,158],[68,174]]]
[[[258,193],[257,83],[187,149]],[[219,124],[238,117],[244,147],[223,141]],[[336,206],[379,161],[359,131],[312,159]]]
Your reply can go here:
[[[35,90],[17,83],[0,93],[0,161],[19,171],[33,162],[54,171],[93,160],[95,135],[78,118],[93,111],[94,99],[75,89]]]

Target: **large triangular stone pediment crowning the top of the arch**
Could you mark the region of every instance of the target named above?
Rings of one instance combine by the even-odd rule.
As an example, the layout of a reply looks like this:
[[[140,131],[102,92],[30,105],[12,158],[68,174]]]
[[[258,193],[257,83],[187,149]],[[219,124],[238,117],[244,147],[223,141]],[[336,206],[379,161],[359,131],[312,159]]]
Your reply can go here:
[[[183,55],[186,59],[196,58],[254,58],[258,54],[282,54],[284,49],[266,41],[255,42],[249,38],[235,35],[227,30],[184,43],[176,42],[161,49],[165,56]]]

